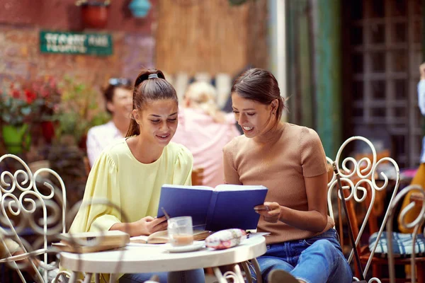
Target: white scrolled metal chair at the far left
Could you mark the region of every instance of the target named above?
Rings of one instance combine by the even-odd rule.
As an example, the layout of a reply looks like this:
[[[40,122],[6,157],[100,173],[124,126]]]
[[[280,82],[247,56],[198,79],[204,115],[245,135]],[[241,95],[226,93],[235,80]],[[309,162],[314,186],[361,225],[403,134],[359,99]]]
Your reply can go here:
[[[4,165],[3,167],[7,168],[6,161],[14,161],[20,168],[14,170],[13,173],[4,170],[0,174],[0,226],[4,233],[0,236],[0,241],[4,245],[7,255],[1,261],[8,262],[11,267],[16,268],[21,280],[26,282],[20,270],[23,266],[16,265],[14,262],[28,258],[38,280],[47,282],[47,241],[51,236],[57,236],[66,231],[67,193],[65,185],[60,175],[50,168],[40,168],[33,174],[28,165],[18,156],[13,154],[1,156],[0,166]],[[57,189],[51,180],[42,178],[42,173],[50,173],[55,176],[60,184],[60,189]],[[38,187],[40,181],[42,186]],[[28,228],[35,238],[31,243],[22,237],[23,231]],[[18,243],[23,254],[11,255],[11,251],[8,250],[5,243],[6,238]],[[44,276],[35,266],[34,258],[38,255],[42,255],[41,262],[46,268]]]

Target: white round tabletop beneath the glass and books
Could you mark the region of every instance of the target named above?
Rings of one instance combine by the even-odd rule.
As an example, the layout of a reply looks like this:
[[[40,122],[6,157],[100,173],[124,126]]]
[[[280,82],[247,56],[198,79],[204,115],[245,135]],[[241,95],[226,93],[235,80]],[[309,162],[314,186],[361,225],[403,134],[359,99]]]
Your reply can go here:
[[[60,253],[60,262],[67,270],[77,272],[169,272],[231,265],[259,257],[266,253],[266,250],[265,238],[254,236],[226,250],[202,248],[193,252],[169,253],[164,244],[129,244],[123,250],[83,254]]]

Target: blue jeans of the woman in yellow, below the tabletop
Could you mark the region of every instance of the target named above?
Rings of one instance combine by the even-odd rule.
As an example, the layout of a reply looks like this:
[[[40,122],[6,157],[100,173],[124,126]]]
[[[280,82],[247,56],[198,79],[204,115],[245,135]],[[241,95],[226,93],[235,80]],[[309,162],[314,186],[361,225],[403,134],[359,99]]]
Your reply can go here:
[[[152,272],[125,274],[120,278],[120,283],[141,283],[149,280],[153,275],[158,275],[160,283],[199,283],[205,282],[205,274],[202,269],[174,272]]]

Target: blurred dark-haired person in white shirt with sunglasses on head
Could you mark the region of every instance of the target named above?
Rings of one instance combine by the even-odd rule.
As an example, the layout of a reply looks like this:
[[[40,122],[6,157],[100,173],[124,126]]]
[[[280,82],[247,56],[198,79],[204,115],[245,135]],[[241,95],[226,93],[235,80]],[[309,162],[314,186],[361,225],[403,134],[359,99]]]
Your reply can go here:
[[[104,125],[92,127],[87,133],[86,145],[90,167],[106,146],[115,139],[125,137],[130,126],[132,91],[132,83],[129,79],[109,79],[103,96],[106,100],[106,111],[112,115],[112,118]]]

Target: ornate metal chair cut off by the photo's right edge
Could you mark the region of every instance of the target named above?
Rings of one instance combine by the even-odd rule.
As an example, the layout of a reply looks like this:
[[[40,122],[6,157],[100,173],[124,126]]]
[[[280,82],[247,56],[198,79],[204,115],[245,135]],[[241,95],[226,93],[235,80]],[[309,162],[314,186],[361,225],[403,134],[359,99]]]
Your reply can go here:
[[[419,185],[409,185],[407,187],[404,187],[404,189],[398,193],[398,195],[395,197],[394,201],[391,203],[390,207],[388,208],[388,211],[390,212],[390,215],[388,217],[387,221],[387,246],[388,246],[388,270],[390,274],[390,282],[395,283],[395,269],[394,269],[394,253],[392,250],[392,219],[394,219],[394,214],[396,212],[397,205],[400,202],[403,202],[404,197],[411,191],[414,191],[414,193],[417,196],[417,200],[412,200],[411,202],[402,209],[401,212],[399,212],[399,223],[404,226],[405,229],[412,229],[412,255],[410,256],[410,268],[411,268],[411,282],[416,283],[416,238],[418,236],[418,233],[420,232],[419,229],[424,224],[424,217],[425,217],[425,191],[424,188],[422,188]],[[409,212],[411,209],[413,209],[416,205],[421,205],[421,212],[419,212],[419,215],[411,222],[407,222],[405,219],[405,216],[407,212]],[[424,231],[423,231],[424,232]]]

